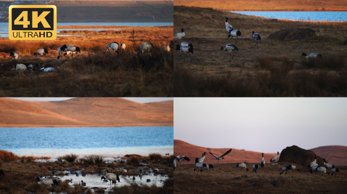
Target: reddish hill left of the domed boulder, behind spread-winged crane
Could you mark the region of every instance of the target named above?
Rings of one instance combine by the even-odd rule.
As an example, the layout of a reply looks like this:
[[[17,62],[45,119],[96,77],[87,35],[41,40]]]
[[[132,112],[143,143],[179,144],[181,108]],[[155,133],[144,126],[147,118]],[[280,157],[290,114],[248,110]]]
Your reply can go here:
[[[198,146],[189,144],[185,141],[173,139],[173,155],[175,156],[185,155],[191,159],[189,163],[184,161],[185,164],[186,163],[195,164],[195,158],[202,157],[203,152],[207,153],[204,163],[215,164],[217,163],[217,160],[209,153],[209,151],[212,152],[214,155],[221,156],[229,149],[230,148],[215,149],[215,148],[198,147]],[[269,163],[269,160],[274,156],[276,156],[276,154],[264,153],[265,164]],[[219,163],[220,164],[239,163],[239,162],[245,162],[245,161],[259,163],[260,160],[261,160],[261,153],[259,152],[232,149],[232,151],[227,156],[225,156],[223,160],[219,161]]]

